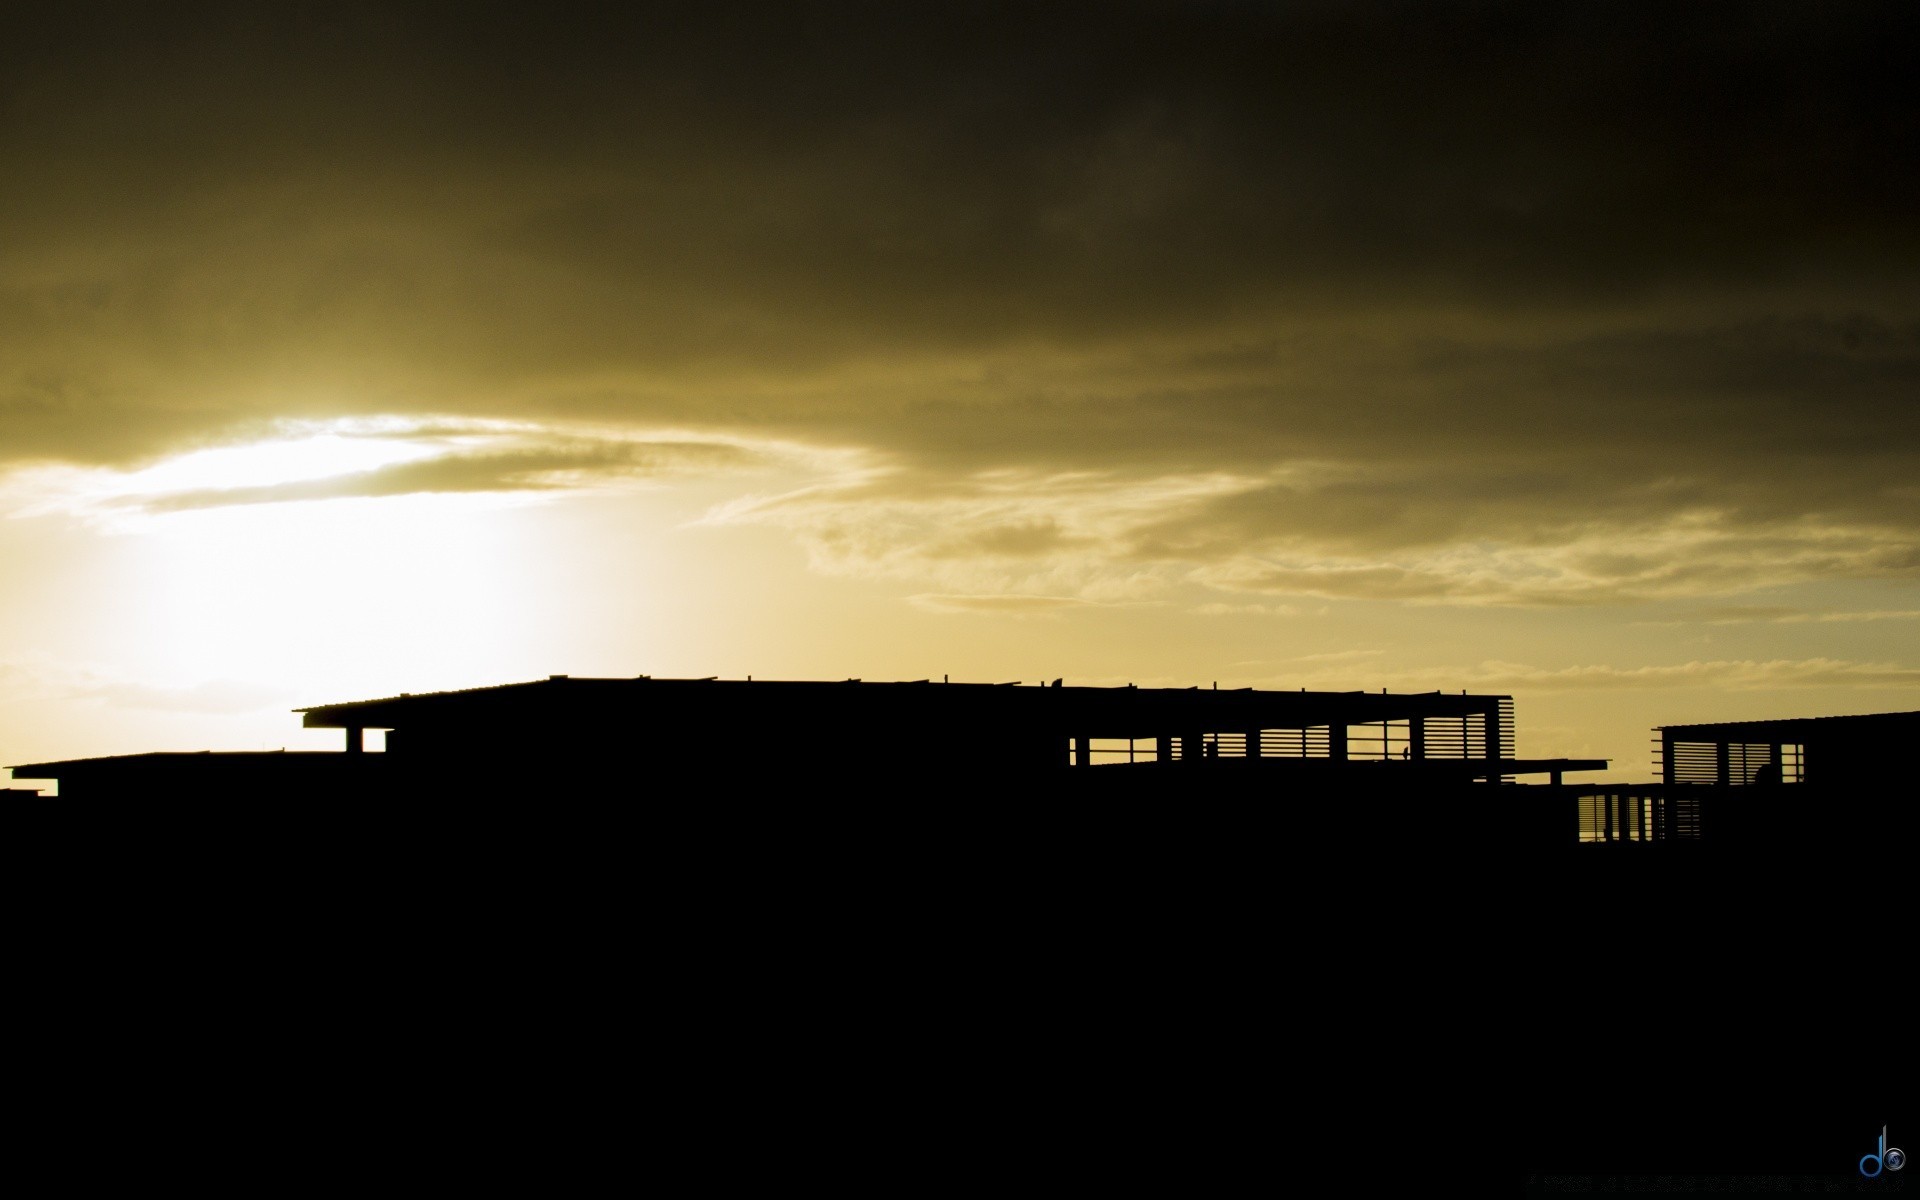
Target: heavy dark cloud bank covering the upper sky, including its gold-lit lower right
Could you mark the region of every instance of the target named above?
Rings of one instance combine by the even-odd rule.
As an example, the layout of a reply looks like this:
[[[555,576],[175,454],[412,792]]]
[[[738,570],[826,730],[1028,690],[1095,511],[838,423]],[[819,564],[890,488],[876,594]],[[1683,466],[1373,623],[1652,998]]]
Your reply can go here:
[[[870,451],[893,472],[803,522],[862,563],[1910,574],[1916,35],[1799,2],[10,10],[0,459],[574,417]],[[626,468],[543,453],[248,503]],[[1094,518],[1071,472],[1231,486]]]

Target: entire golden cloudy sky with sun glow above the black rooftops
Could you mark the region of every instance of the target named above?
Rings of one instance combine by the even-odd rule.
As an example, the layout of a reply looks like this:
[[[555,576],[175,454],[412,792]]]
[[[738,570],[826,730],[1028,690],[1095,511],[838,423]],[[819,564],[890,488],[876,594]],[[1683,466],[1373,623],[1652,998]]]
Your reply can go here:
[[[549,674],[1511,693],[1605,780],[1920,708],[1914,44],[0,6],[0,762]]]

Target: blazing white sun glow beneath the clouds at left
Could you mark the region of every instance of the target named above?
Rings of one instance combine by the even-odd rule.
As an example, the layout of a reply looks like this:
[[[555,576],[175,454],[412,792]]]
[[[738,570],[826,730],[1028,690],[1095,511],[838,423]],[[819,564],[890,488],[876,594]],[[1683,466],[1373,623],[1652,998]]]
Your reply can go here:
[[[785,492],[847,467],[670,428],[380,417],[267,434],[0,476],[0,547],[58,541],[90,564],[13,597],[23,628],[77,664],[42,689],[142,722],[142,749],[315,749],[294,701],[647,662],[710,620],[676,607],[687,580],[764,584],[714,549],[753,534],[703,513],[749,478]],[[67,753],[115,749],[63,737]]]

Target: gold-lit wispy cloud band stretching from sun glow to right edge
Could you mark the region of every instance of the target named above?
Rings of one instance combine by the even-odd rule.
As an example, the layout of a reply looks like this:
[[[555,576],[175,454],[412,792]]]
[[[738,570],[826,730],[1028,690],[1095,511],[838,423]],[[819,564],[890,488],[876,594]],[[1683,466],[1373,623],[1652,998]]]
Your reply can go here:
[[[1323,470],[1304,465],[1273,474],[1296,476],[1279,488],[1311,503],[1313,476]],[[1361,474],[1342,468],[1348,482]],[[712,520],[787,528],[826,572],[1094,599],[1202,586],[1281,597],[1597,607],[1843,578],[1912,580],[1920,568],[1920,543],[1897,526],[1816,516],[1761,522],[1651,505],[1617,520],[1526,530],[1515,516],[1507,530],[1369,545],[1365,520],[1354,522],[1352,536],[1329,536],[1290,524],[1284,513],[1246,518],[1248,499],[1271,490],[1263,478],[1229,472],[941,476],[891,468],[726,505]],[[1219,528],[1221,511],[1240,513],[1231,536]],[[1265,513],[1265,501],[1254,511]]]

